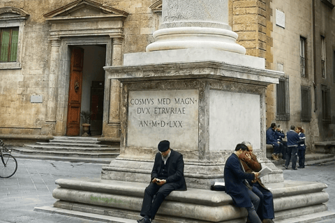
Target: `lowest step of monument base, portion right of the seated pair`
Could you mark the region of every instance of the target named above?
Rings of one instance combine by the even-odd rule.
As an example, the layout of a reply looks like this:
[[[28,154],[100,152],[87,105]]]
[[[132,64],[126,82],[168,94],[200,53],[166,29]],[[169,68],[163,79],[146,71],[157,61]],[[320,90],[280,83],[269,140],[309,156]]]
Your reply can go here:
[[[320,213],[313,213],[309,215],[302,215],[297,217],[286,218],[284,220],[274,220],[275,223],[311,223],[320,222],[322,220],[329,220],[335,218],[334,210],[327,210]],[[335,219],[334,219],[335,222]]]

